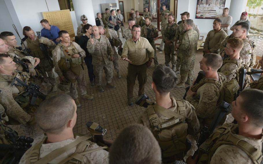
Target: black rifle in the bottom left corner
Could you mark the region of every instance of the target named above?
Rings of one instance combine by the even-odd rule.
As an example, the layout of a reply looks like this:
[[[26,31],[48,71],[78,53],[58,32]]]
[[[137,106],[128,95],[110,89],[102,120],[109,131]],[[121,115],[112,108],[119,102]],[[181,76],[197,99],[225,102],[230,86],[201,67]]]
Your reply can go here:
[[[0,144],[0,159],[1,163],[16,164],[20,161],[23,154],[32,146],[33,138],[18,136],[18,133],[12,128],[5,125],[2,119],[6,115],[4,111],[0,112],[0,125],[4,132],[5,141],[8,143]]]

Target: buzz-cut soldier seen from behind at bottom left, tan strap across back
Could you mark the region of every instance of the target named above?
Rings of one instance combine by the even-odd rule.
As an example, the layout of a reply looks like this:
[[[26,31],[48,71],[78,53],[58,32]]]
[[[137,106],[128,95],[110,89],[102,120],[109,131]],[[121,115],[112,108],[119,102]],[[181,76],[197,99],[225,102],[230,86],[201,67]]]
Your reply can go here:
[[[47,138],[27,150],[20,163],[108,163],[105,147],[88,140],[91,135],[79,137],[73,134],[76,111],[75,101],[67,94],[43,101],[36,112],[36,120]],[[80,154],[87,151],[89,153]]]

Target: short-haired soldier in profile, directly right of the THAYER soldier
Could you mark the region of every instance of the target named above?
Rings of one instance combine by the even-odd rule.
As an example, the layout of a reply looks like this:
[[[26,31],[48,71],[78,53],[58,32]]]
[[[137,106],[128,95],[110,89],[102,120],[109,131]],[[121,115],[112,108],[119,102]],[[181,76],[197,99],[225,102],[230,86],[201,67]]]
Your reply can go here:
[[[204,55],[200,61],[200,69],[205,72],[205,78],[202,80],[213,79],[220,82],[222,79],[223,84],[227,83],[225,75],[217,72],[222,66],[222,62],[222,58],[217,54],[208,53]],[[221,103],[218,102],[219,88],[214,83],[205,83],[197,90],[192,88],[193,86],[186,93],[186,100],[195,107],[200,124],[209,126],[216,113],[215,107]]]

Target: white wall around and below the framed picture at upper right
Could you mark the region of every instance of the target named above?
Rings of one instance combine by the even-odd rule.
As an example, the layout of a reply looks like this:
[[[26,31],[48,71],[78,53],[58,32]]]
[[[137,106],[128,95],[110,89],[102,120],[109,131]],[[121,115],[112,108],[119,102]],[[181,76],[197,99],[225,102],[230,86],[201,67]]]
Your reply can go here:
[[[226,0],[225,8],[229,8],[230,1],[231,0]],[[195,18],[196,5],[197,5],[197,0],[178,0],[177,22],[181,20],[180,14],[185,11],[188,11],[190,13],[190,19],[192,19],[194,23],[199,27],[200,33],[206,34],[213,29],[214,19],[196,19]]]

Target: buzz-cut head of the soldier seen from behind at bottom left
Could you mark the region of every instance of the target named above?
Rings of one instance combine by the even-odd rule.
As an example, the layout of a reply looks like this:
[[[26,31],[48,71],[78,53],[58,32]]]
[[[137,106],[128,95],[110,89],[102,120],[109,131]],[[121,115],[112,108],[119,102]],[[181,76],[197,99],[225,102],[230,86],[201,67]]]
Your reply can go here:
[[[74,137],[72,129],[77,120],[76,110],[75,101],[68,94],[53,96],[40,104],[36,111],[36,122],[47,134],[47,141],[58,142],[53,140],[53,136],[60,136],[58,140]]]

